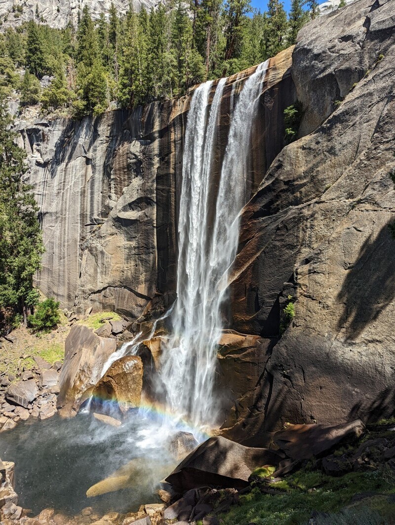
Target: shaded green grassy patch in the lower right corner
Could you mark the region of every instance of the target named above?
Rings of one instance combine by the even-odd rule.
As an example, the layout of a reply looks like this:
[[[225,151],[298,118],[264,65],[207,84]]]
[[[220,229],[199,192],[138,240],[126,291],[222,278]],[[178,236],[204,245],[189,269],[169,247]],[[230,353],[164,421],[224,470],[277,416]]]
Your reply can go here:
[[[379,523],[387,523],[385,520],[395,515],[395,502],[392,503],[388,499],[388,496],[395,493],[395,487],[383,479],[379,470],[351,472],[340,478],[334,478],[318,470],[301,469],[286,480],[272,484],[270,487],[284,490],[284,494],[272,496],[261,493],[258,487],[254,488],[249,494],[240,498],[239,507],[234,507],[221,516],[220,523],[223,525],[247,525],[251,522],[257,525],[305,524],[311,518],[312,511],[332,513],[330,523],[358,523],[344,521],[340,514],[337,519],[336,513],[344,512],[344,508],[350,505],[356,493],[366,491],[377,491],[379,494],[356,502],[353,504],[353,509],[367,507],[372,519],[375,519],[376,515],[380,517]],[[361,513],[365,516],[368,514]]]

